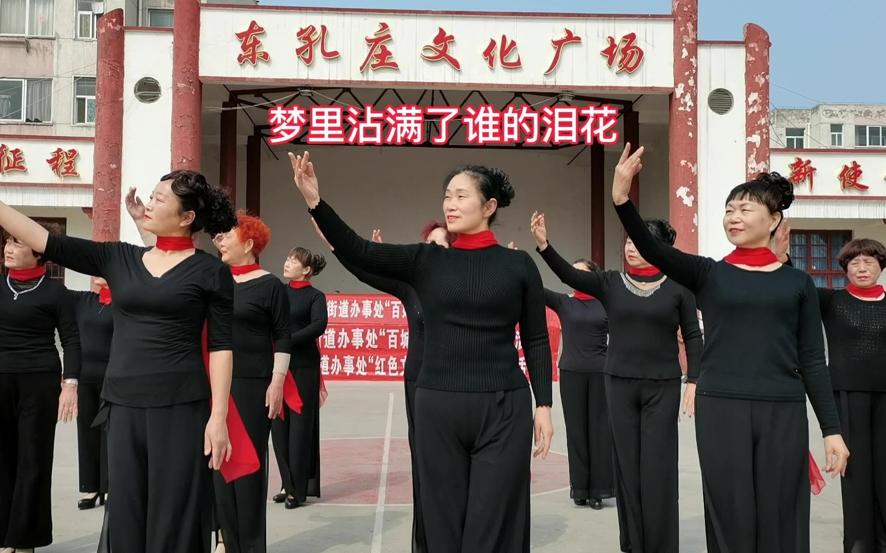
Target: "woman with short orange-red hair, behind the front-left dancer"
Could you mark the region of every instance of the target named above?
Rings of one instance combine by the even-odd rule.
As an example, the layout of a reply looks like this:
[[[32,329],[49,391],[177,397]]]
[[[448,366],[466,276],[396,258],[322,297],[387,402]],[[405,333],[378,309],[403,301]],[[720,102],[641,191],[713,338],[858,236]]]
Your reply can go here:
[[[129,188],[126,206],[144,245],[153,245],[157,237],[144,230],[144,204],[135,188]],[[237,211],[237,227],[213,238],[234,276],[230,395],[260,462],[258,471],[230,482],[214,475],[216,529],[221,529],[216,553],[267,550],[268,435],[282,410],[291,346],[286,288],[257,263],[270,238],[264,221],[243,210]],[[286,399],[300,408],[297,395]]]

